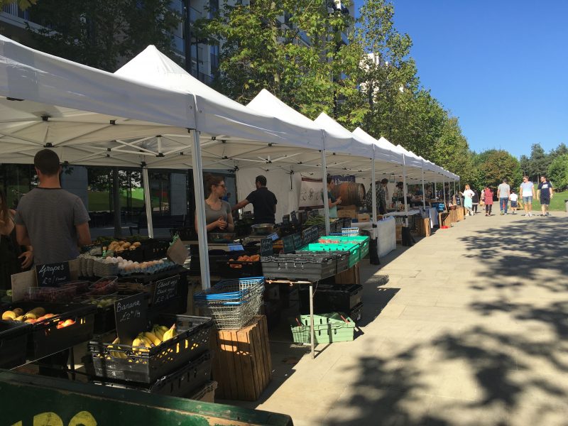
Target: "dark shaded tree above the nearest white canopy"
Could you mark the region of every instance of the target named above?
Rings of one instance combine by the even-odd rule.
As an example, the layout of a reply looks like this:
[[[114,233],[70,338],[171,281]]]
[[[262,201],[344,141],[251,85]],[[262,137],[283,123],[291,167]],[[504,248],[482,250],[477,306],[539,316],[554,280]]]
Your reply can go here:
[[[28,26],[39,50],[114,72],[149,44],[176,58],[172,31],[181,16],[169,0],[42,0],[30,13],[43,23]]]

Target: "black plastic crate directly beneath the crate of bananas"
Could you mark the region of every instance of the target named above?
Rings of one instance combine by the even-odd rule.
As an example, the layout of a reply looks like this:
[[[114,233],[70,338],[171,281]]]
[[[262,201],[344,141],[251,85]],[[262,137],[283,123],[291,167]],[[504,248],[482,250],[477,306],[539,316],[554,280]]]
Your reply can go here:
[[[189,361],[178,371],[158,378],[155,383],[134,385],[128,381],[108,381],[94,378],[92,383],[111,388],[134,389],[136,391],[158,393],[160,395],[185,397],[197,391],[205,383],[211,380],[211,352],[207,351],[197,358]],[[87,371],[92,373],[92,364],[87,366]]]

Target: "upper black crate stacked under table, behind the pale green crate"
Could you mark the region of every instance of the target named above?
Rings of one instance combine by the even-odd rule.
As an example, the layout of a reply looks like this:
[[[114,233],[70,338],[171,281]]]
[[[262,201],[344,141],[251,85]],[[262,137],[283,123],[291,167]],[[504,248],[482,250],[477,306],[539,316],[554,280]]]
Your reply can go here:
[[[362,302],[362,296],[363,285],[360,284],[324,285],[320,283],[314,293],[314,313],[351,312],[351,309]],[[310,288],[302,285],[300,286],[300,314],[309,313]]]

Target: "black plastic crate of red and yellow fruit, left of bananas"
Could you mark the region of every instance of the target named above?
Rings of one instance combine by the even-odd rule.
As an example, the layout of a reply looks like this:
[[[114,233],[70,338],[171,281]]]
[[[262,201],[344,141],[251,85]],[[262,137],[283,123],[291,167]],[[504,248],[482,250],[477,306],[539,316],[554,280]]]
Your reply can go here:
[[[96,307],[81,304],[15,302],[10,309],[21,307],[24,312],[28,312],[39,306],[45,309],[45,313],[52,313],[55,316],[32,324],[26,350],[28,359],[40,359],[92,339]],[[65,320],[73,320],[75,324],[58,328],[58,323]]]

